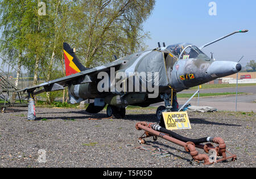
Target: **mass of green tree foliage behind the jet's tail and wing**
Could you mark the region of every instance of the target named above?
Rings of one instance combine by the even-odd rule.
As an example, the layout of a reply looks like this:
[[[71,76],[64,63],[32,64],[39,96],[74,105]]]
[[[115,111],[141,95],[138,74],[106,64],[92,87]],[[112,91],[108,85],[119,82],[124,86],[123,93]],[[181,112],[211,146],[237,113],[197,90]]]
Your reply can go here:
[[[63,42],[77,48],[86,67],[143,50],[148,33],[142,24],[155,6],[155,0],[48,0],[46,15],[39,15],[38,2],[0,1],[0,52],[34,75],[33,85],[38,76],[49,81],[65,75]],[[47,93],[48,104],[54,95]]]

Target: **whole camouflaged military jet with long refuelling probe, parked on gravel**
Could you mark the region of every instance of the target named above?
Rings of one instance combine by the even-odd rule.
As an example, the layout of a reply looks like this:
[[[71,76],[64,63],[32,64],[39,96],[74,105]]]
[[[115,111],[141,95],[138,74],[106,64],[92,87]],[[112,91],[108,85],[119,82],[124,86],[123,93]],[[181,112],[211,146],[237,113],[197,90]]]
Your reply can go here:
[[[159,44],[158,48],[134,53],[92,69],[84,67],[76,57],[75,50],[64,43],[67,76],[20,90],[28,92],[28,120],[36,119],[35,95],[64,90],[64,87],[69,89],[72,104],[88,100],[88,113],[99,113],[108,104],[108,117],[125,117],[128,105],[147,107],[164,101],[165,106],[160,106],[156,111],[160,120],[163,111],[179,109],[177,92],[238,73],[242,69],[237,62],[214,61],[201,49],[234,33],[247,31],[230,33],[200,48],[189,43],[170,46],[163,43],[163,47]],[[117,84],[122,90],[117,89]]]

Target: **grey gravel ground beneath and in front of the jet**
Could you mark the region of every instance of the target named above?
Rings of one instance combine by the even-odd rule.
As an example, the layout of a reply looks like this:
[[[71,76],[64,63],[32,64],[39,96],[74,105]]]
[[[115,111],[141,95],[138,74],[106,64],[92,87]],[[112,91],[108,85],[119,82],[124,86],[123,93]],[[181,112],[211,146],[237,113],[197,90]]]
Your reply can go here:
[[[27,121],[26,108],[9,108],[0,114],[0,167],[256,167],[255,113],[189,113],[192,130],[176,131],[189,138],[221,137],[237,161],[213,165],[191,163],[183,147],[164,139],[147,139],[147,145],[169,152],[151,156],[139,150],[135,129],[140,121],[156,122],[155,109],[127,110],[125,119],[88,120],[84,109],[37,108],[40,121]],[[38,151],[46,151],[46,163],[38,162]],[[198,150],[204,154],[203,150]]]

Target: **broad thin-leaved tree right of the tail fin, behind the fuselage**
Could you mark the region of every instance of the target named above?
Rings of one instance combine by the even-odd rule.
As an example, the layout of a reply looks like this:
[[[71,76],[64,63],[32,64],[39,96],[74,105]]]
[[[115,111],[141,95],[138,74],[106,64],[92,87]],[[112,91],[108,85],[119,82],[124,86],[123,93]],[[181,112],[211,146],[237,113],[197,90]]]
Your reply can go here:
[[[154,0],[77,1],[72,9],[73,41],[86,67],[113,61],[141,48],[147,34],[142,23]],[[143,45],[142,45],[143,46]]]

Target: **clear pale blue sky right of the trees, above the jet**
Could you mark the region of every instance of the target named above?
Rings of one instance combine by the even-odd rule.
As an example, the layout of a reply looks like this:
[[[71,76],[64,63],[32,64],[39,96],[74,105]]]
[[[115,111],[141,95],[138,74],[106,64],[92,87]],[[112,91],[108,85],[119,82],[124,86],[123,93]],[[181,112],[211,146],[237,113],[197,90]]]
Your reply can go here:
[[[209,15],[210,2],[216,3],[216,15]],[[144,32],[150,32],[146,41],[148,49],[189,42],[196,46],[207,44],[219,37],[241,29],[247,33],[236,33],[227,39],[203,49],[216,60],[238,61],[242,66],[250,60],[256,61],[256,1],[255,0],[156,0],[154,11],[144,23]],[[212,11],[211,11],[212,12]]]

